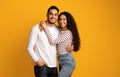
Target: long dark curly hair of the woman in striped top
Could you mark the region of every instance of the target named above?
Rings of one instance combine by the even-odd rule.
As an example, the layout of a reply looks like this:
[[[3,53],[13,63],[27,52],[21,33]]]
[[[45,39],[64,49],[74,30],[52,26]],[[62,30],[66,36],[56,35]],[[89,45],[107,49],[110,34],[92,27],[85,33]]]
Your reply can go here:
[[[77,30],[76,22],[69,12],[61,12],[58,16],[58,21],[60,20],[61,15],[65,15],[67,18],[67,28],[72,32],[73,36],[74,51],[78,51],[80,48],[80,37]]]

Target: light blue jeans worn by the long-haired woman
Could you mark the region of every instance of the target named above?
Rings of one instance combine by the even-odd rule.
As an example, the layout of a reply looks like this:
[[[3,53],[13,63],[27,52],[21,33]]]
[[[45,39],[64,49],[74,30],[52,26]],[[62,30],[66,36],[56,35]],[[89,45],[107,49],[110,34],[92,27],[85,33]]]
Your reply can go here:
[[[75,68],[75,61],[71,53],[61,54],[58,56],[60,64],[60,73],[58,77],[71,77]]]

